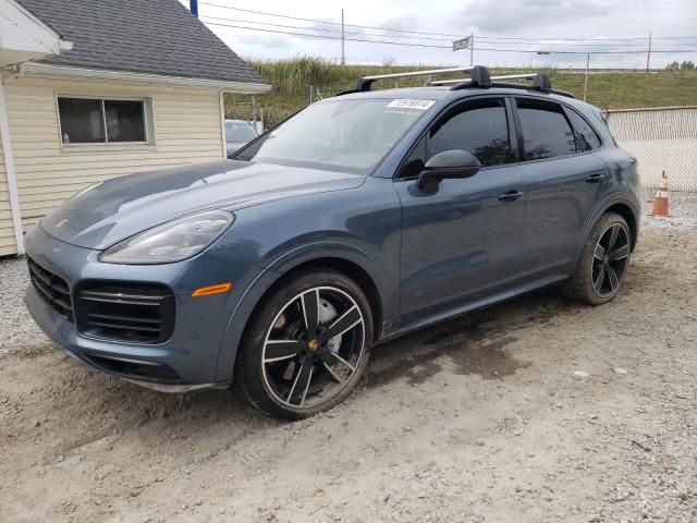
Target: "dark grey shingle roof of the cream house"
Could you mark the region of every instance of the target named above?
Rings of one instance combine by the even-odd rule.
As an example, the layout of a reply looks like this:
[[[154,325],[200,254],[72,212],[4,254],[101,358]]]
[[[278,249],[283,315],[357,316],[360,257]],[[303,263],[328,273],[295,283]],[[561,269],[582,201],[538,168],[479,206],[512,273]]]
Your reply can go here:
[[[17,0],[74,44],[46,63],[265,83],[178,0]]]

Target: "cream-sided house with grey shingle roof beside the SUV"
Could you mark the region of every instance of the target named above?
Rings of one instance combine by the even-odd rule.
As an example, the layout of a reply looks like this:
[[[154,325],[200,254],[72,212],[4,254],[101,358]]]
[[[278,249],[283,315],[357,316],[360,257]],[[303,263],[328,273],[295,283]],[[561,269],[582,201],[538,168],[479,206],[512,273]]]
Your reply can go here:
[[[0,0],[0,256],[81,188],[224,157],[264,78],[178,0]]]

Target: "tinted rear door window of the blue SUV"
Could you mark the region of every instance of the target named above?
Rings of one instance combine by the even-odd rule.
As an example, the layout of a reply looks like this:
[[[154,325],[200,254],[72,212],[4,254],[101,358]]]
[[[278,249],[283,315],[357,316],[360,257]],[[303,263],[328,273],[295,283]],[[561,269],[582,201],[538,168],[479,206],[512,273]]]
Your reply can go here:
[[[517,106],[526,160],[576,154],[576,141],[561,106],[524,99]]]

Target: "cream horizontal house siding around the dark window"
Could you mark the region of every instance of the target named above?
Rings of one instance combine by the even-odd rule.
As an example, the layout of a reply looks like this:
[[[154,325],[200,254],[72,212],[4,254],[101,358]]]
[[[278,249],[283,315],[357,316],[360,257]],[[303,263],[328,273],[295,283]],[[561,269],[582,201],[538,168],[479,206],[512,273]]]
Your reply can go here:
[[[25,231],[95,182],[224,156],[218,92],[30,77],[12,78],[4,90]],[[63,148],[57,94],[148,98],[155,141]],[[9,246],[4,251],[3,242]],[[14,252],[14,241],[7,182],[0,170],[0,254],[10,254],[7,251]]]

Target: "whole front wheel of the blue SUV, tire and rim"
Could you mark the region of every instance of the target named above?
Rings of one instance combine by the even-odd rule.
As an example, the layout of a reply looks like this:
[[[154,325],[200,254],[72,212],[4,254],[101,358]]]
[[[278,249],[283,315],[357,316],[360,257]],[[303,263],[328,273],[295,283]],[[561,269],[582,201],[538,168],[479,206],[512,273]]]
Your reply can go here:
[[[370,305],[353,280],[333,269],[297,271],[255,308],[237,351],[235,382],[268,414],[313,416],[356,388],[372,332]]]

